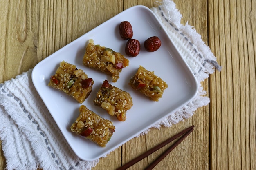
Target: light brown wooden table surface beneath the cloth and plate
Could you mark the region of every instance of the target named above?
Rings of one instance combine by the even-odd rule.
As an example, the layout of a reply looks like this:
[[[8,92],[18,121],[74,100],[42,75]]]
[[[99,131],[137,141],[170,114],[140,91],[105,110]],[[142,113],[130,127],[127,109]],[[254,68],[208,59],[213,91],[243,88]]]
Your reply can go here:
[[[256,1],[173,0],[217,57],[222,71],[202,82],[209,105],[189,119],[132,139],[92,170],[114,170],[195,125],[155,170],[256,169]],[[33,68],[61,47],[137,4],[155,0],[1,0],[0,83]],[[170,145],[168,145],[170,146]],[[129,168],[143,170],[166,148]],[[0,152],[0,168],[6,166]]]

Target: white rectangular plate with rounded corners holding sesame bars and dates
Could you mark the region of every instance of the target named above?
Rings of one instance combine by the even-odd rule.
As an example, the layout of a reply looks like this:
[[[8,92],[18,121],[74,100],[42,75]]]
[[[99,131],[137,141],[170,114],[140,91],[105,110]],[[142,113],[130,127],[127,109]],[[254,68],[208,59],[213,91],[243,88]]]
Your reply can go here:
[[[141,51],[137,57],[131,58],[125,55],[126,40],[121,39],[119,35],[119,24],[122,21],[131,23],[133,38],[141,43]],[[157,51],[149,53],[145,51],[143,43],[151,36],[158,36],[162,41],[162,46]],[[122,53],[130,60],[129,66],[123,69],[116,83],[112,83],[111,76],[83,66],[83,55],[89,39],[93,39],[95,44]],[[94,79],[92,93],[83,104],[101,117],[113,121],[116,127],[111,140],[104,148],[70,131],[70,126],[79,115],[81,104],[65,93],[48,86],[51,75],[54,75],[59,63],[63,60],[83,69],[88,77]],[[159,102],[151,101],[128,85],[130,77],[136,73],[139,65],[149,71],[154,71],[155,75],[168,84]],[[134,105],[128,110],[127,119],[124,122],[111,117],[105,110],[93,103],[105,79],[132,96]],[[190,102],[198,91],[198,84],[193,73],[180,56],[162,24],[150,9],[140,5],[119,13],[39,62],[33,69],[32,80],[68,144],[78,157],[86,161],[96,160],[139,135]]]

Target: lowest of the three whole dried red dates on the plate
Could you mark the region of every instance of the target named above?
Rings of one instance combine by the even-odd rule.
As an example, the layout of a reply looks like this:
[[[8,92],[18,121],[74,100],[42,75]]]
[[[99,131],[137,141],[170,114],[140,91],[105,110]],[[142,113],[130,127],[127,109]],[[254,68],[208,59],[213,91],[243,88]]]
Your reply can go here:
[[[125,53],[130,57],[136,57],[140,51],[140,43],[136,39],[130,39],[126,43]]]

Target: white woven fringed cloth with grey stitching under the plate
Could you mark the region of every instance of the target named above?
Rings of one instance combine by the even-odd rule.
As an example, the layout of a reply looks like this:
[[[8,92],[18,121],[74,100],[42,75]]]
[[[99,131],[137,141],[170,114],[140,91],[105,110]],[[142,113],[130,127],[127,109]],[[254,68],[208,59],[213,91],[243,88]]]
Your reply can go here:
[[[164,24],[200,86],[193,101],[154,126],[159,128],[191,117],[197,108],[207,105],[209,98],[203,96],[206,92],[200,82],[221,67],[201,36],[188,24],[180,24],[182,15],[173,1],[164,0],[152,11]],[[0,84],[0,139],[6,169],[90,170],[99,160],[82,161],[74,154],[36,92],[31,71]]]

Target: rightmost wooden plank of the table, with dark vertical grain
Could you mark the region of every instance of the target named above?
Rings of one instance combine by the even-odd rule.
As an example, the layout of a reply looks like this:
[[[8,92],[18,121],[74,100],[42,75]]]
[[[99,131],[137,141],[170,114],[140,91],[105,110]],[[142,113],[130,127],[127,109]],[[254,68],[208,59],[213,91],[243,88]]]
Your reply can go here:
[[[223,66],[210,76],[211,169],[256,167],[255,2],[209,1],[209,46]]]

